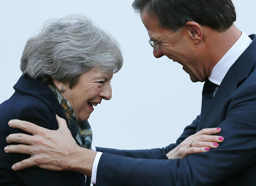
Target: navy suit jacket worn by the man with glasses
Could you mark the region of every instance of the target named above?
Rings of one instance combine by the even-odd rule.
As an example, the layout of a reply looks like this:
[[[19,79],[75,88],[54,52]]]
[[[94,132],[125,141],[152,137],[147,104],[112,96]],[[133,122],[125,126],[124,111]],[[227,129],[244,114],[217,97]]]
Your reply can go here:
[[[103,154],[96,185],[256,185],[256,37],[250,38],[253,42],[231,66],[208,108],[185,128],[177,143],[137,151],[97,148]],[[164,160],[162,153],[211,127],[222,129],[219,135],[225,141],[218,148]]]

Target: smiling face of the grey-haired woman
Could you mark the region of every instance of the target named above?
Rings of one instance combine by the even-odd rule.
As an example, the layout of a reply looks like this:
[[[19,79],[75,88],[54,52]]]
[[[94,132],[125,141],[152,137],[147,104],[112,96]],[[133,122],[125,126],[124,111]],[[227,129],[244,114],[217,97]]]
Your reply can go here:
[[[65,85],[66,90],[61,94],[69,101],[78,121],[87,120],[94,110],[93,106],[100,104],[102,99],[111,99],[112,76],[113,72],[102,73],[91,69],[81,74],[79,81],[71,89]],[[56,84],[56,81],[54,82]]]

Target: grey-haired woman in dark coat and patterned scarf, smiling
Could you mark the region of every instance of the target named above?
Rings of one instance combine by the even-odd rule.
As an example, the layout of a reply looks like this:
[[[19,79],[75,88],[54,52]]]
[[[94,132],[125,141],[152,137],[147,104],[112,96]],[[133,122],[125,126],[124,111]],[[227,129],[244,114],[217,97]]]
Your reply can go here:
[[[64,118],[75,142],[87,149],[91,149],[92,134],[87,119],[94,110],[93,106],[101,103],[102,99],[111,98],[110,79],[113,73],[122,67],[122,54],[117,41],[102,31],[87,18],[72,15],[59,20],[50,20],[42,31],[30,38],[25,46],[21,58],[23,76],[14,86],[14,95],[0,105],[1,140],[13,142],[13,133],[24,133],[22,130],[10,128],[6,123],[11,119],[33,122],[42,127],[57,130],[56,114]],[[220,129],[206,129],[184,140],[178,148],[167,154],[168,158],[183,158],[195,152],[206,152],[218,145],[209,140],[194,144],[193,141],[201,134],[216,134]],[[49,146],[47,152],[54,153],[54,146],[61,146],[70,138],[69,133],[63,133],[56,143],[44,144]],[[31,136],[30,136],[31,137]],[[65,139],[63,139],[65,138]],[[217,138],[218,139],[218,138]],[[15,138],[16,142],[23,142],[23,135]],[[43,142],[39,140],[42,144]],[[38,142],[39,142],[38,141]],[[203,141],[203,140],[202,140]],[[33,144],[27,141],[27,144]],[[43,145],[43,144],[42,144]],[[4,148],[7,143],[1,143]],[[75,143],[72,145],[75,146]],[[72,146],[67,149],[73,149]],[[197,146],[197,147],[195,147]],[[19,146],[20,152],[24,146]],[[34,148],[35,149],[35,148]],[[195,150],[197,149],[197,150]],[[9,152],[5,148],[6,152]],[[36,150],[38,155],[43,152]],[[59,151],[58,154],[67,154]],[[72,153],[71,153],[72,154]],[[117,151],[118,154],[118,151]],[[6,154],[1,152],[0,183],[5,185],[86,185],[90,178],[77,172],[55,172],[39,167],[30,167],[22,171],[13,171],[14,163],[29,158],[25,154]],[[81,155],[82,156],[82,155]],[[35,162],[41,157],[33,156]],[[51,161],[58,158],[45,157]],[[58,170],[70,163],[72,155],[58,164]],[[74,157],[73,157],[74,158]],[[86,157],[85,157],[86,159]],[[61,167],[63,165],[63,167]],[[25,165],[24,165],[25,166]],[[81,162],[82,166],[82,162]],[[44,168],[42,166],[42,168]],[[13,168],[15,169],[15,168]],[[20,168],[19,168],[20,169]],[[54,169],[56,170],[56,169]]]

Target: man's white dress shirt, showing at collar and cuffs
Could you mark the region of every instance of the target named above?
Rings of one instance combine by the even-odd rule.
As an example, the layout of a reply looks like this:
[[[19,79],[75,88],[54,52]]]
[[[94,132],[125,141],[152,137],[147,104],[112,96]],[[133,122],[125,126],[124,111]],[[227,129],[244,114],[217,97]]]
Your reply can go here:
[[[241,36],[235,42],[235,44],[227,51],[227,53],[219,60],[219,62],[213,67],[209,81],[220,85],[224,76],[226,75],[229,68],[234,64],[234,62],[241,56],[241,54],[246,50],[247,47],[251,44],[252,40],[249,36],[242,31]],[[216,88],[213,95],[215,95],[218,87]],[[96,151],[96,147],[92,147],[92,150]],[[99,159],[101,158],[102,152],[97,152],[91,173],[91,183],[96,184],[96,174]]]

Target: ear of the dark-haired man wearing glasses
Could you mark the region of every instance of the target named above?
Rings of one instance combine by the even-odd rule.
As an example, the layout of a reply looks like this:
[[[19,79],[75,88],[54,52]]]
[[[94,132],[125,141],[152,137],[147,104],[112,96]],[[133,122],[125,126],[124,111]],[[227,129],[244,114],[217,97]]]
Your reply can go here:
[[[201,25],[194,21],[188,21],[186,23],[186,28],[189,32],[190,39],[193,40],[194,44],[198,44],[203,38],[203,29]]]

